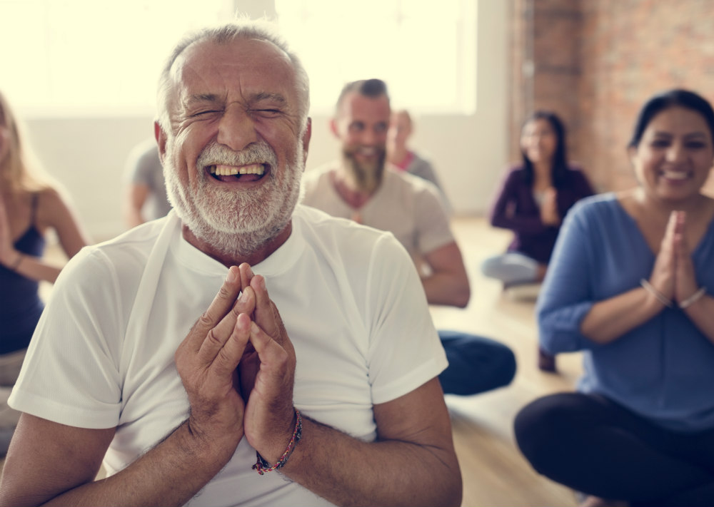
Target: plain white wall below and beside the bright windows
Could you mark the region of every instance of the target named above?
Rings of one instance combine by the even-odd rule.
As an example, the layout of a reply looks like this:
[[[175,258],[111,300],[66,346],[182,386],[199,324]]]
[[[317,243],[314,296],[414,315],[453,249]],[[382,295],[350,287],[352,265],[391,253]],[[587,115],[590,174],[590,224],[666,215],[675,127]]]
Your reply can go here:
[[[508,2],[478,0],[476,113],[420,116],[416,125],[413,147],[436,165],[458,215],[486,212],[507,163],[507,43]],[[69,190],[95,240],[124,230],[121,220],[124,162],[136,143],[154,135],[152,114],[120,118],[26,118],[39,157]],[[336,158],[337,154],[338,145],[328,129],[328,118],[314,116],[308,170]]]

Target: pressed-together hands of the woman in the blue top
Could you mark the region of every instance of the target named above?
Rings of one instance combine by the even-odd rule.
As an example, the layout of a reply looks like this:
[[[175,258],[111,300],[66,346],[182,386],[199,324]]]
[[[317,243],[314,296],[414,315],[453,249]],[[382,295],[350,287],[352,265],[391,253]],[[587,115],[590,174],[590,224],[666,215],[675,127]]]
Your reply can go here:
[[[650,275],[650,285],[675,304],[681,304],[699,290],[685,235],[686,219],[683,211],[670,214]]]

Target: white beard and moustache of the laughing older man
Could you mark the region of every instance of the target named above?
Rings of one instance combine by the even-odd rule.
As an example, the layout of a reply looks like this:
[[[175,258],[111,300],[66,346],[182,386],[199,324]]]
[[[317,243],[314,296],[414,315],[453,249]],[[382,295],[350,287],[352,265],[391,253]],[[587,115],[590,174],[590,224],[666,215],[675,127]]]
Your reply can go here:
[[[255,143],[248,149],[235,152],[218,143],[203,148],[198,156],[196,170],[197,188],[183,185],[174,168],[171,156],[164,159],[166,193],[176,215],[193,235],[217,252],[232,257],[245,257],[258,251],[276,237],[290,222],[301,194],[300,181],[304,162],[300,143],[296,143],[292,163],[282,172],[278,169],[277,155],[267,143]],[[172,141],[166,145],[171,153]],[[271,171],[257,189],[224,190],[208,185],[203,168],[206,165],[248,165],[267,163]]]

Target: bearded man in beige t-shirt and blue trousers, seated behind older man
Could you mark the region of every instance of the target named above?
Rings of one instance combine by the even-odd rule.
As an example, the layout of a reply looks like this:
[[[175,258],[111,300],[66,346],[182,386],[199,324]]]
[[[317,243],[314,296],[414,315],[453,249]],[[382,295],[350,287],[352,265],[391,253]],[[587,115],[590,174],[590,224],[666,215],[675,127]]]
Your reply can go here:
[[[329,215],[388,230],[414,260],[429,304],[464,308],[471,285],[438,189],[386,163],[391,108],[381,79],[347,83],[330,122],[341,143],[338,160],[303,177],[303,204]],[[448,367],[445,394],[471,396],[511,384],[516,356],[501,342],[438,329]]]

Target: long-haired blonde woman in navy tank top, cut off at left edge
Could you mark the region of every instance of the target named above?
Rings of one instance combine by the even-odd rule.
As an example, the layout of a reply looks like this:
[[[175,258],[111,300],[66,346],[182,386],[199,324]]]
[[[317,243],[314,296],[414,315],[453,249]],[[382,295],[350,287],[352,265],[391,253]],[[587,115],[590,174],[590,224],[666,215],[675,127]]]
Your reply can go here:
[[[67,257],[87,244],[66,200],[37,170],[0,93],[0,456],[19,416],[7,397],[44,308],[39,282],[54,282],[60,270],[42,259],[44,235],[53,229]]]

